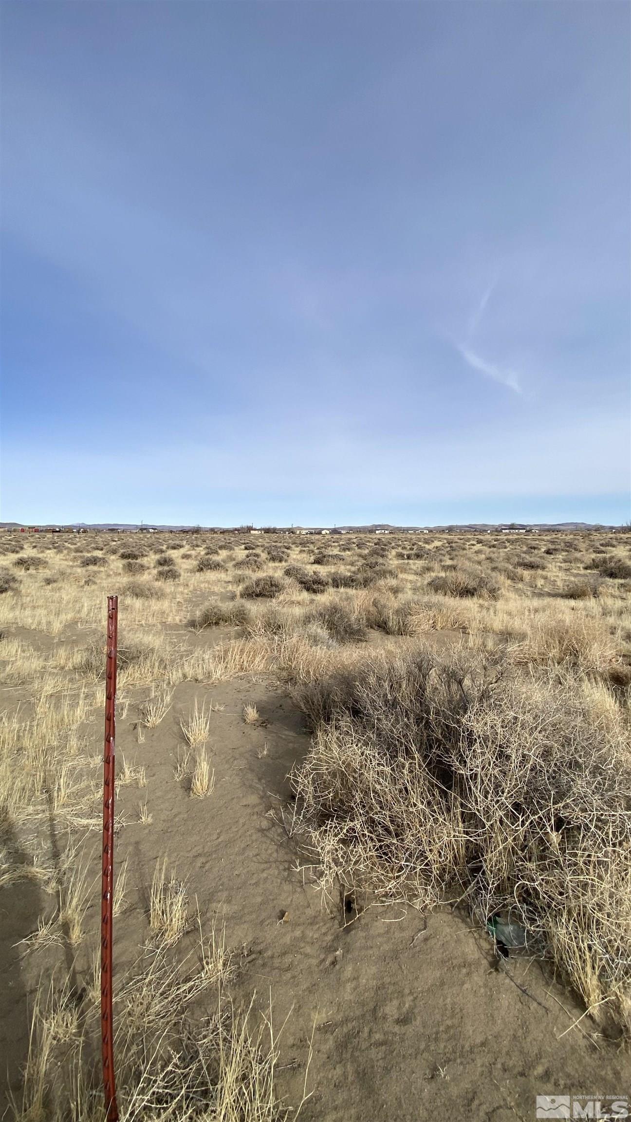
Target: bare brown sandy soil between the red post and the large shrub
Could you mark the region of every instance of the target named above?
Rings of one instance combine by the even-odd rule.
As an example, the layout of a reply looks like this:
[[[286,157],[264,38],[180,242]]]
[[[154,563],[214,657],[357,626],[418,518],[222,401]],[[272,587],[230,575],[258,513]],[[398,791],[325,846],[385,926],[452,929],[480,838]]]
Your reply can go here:
[[[204,800],[191,799],[173,775],[180,716],[195,698],[222,707],[211,717],[216,787]],[[255,725],[244,723],[246,702],[258,708]],[[119,969],[146,936],[148,889],[166,855],[202,916],[218,913],[229,945],[244,949],[236,1000],[247,1002],[256,990],[265,1011],[272,994],[275,1029],[284,1024],[278,1091],[290,1103],[301,1098],[312,1037],[305,1119],[509,1122],[534,1118],[536,1093],[631,1086],[629,1057],[598,1038],[588,1018],[573,1028],[583,1010],[571,995],[536,963],[497,969],[491,940],[466,918],[446,910],[426,926],[413,910],[368,908],[347,922],[341,901],[322,901],[309,870],[298,871],[309,858],[282,827],[283,811],[291,816],[286,775],[309,741],[271,681],[247,677],[211,691],[183,683],[144,744],[134,723],[130,708],[119,721],[118,755],[145,766],[147,788],[124,788],[118,802],[128,825],[117,859],[128,857],[130,866]],[[150,829],[132,820],[145,795]],[[0,1047],[13,1076],[24,1060],[26,1009],[12,947],[39,910],[30,886],[3,901]]]

